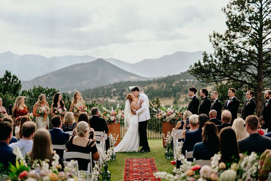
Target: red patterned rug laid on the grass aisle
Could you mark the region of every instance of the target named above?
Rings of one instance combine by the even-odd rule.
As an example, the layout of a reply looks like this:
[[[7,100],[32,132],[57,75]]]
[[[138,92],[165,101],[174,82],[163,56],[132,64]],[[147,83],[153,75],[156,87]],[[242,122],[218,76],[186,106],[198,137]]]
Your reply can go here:
[[[153,158],[131,158],[125,159],[124,181],[161,181],[153,175],[157,172]]]

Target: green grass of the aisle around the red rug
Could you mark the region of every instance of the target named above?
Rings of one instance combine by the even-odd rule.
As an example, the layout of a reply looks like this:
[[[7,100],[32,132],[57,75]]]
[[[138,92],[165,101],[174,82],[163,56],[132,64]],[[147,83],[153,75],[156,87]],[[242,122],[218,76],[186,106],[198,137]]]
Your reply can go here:
[[[171,160],[165,158],[166,149],[163,147],[162,140],[148,140],[151,152],[139,153],[139,152],[123,152],[117,153],[116,160],[109,161],[108,170],[111,172],[112,181],[123,180],[124,165],[126,158],[149,158],[153,157],[157,170],[172,173],[174,165],[170,164]],[[140,149],[141,147],[139,147]]]

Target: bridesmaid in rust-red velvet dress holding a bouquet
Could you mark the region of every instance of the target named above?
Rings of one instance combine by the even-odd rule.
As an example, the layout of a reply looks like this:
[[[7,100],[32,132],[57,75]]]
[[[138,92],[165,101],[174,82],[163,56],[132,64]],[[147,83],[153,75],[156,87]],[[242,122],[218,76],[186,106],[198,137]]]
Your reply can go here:
[[[15,123],[15,119],[19,116],[25,116],[29,113],[29,109],[26,107],[26,105],[24,104],[25,100],[24,100],[24,96],[19,96],[16,98],[14,106],[13,106],[13,122]]]

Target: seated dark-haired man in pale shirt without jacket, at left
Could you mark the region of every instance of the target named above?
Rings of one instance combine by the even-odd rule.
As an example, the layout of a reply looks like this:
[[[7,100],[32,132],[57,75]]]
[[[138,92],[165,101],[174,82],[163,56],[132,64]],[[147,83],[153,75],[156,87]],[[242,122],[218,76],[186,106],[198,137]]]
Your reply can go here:
[[[26,153],[30,152],[33,147],[33,141],[32,138],[35,135],[36,132],[36,124],[35,122],[32,121],[27,121],[23,124],[22,127],[22,138],[16,142],[16,143],[11,143],[8,146],[14,150],[15,146],[20,148],[23,156],[26,155]]]

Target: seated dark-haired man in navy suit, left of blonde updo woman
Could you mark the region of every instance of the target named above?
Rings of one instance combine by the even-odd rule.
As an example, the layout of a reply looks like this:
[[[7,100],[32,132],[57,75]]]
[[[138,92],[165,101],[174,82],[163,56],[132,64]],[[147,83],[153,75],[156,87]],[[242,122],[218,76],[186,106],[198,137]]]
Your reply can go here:
[[[70,138],[69,133],[65,133],[62,131],[62,122],[61,122],[61,117],[59,115],[53,116],[51,118],[51,122],[53,125],[53,129],[49,130],[51,134],[51,140],[52,144],[66,144],[67,141]],[[55,149],[59,157],[62,159],[63,158],[63,150]]]

